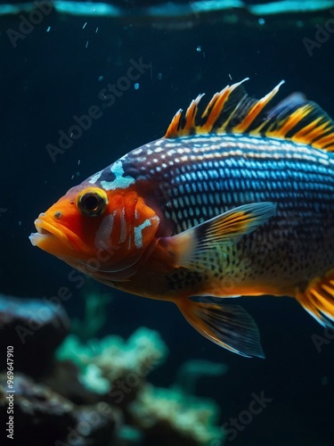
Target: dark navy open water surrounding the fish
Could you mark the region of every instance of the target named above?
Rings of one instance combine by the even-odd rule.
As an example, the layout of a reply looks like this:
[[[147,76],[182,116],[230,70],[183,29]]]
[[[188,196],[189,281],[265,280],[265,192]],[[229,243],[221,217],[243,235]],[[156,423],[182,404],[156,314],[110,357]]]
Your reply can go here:
[[[331,17],[323,12],[322,23]],[[71,316],[82,314],[85,290],[69,283],[69,267],[29,243],[34,219],[70,186],[162,136],[175,111],[199,93],[211,95],[231,83],[230,75],[233,81],[249,77],[248,93],[257,97],[284,78],[280,97],[302,91],[334,117],[334,36],[311,57],[303,38],[314,39],[315,23],[303,28],[288,19],[257,26],[195,17],[191,28],[177,29],[181,21],[174,19],[173,26],[157,29],[136,17],[116,21],[53,12],[14,48],[5,30],[19,29],[20,20],[2,18],[0,208],[6,211],[0,218],[0,291],[52,297],[61,285],[69,286],[73,297],[66,308]],[[57,145],[58,131],[68,131],[73,115],[86,114],[93,104],[102,107],[102,88],[125,76],[129,61],[139,58],[151,64],[137,80],[139,88],[132,84],[102,109],[102,118],[53,162],[45,145]],[[198,335],[173,305],[98,286],[115,296],[102,335],[128,336],[148,326],[167,342],[170,355],[151,375],[154,384],[171,384],[186,359],[209,359],[224,362],[229,372],[201,379],[197,392],[219,403],[222,425],[248,409],[253,392],[273,400],[244,425],[234,446],[334,443],[334,340],[317,351],[312,336],[323,335],[323,328],[297,302],[242,299],[257,320],[266,353],[265,360],[245,359]]]

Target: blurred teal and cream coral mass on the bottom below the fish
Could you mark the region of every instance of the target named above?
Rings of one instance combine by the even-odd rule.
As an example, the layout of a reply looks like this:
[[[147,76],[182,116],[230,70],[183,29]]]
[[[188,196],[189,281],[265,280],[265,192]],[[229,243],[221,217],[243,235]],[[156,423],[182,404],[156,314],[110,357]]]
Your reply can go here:
[[[69,335],[57,357],[73,360],[86,388],[118,405],[130,425],[145,434],[145,444],[223,444],[224,434],[215,426],[219,409],[214,401],[189,394],[200,376],[222,375],[226,371],[223,364],[188,361],[171,389],[153,387],[145,377],[166,359],[167,345],[157,332],[144,327],[127,341],[110,335],[81,343],[77,336]],[[189,385],[183,390],[186,376]]]

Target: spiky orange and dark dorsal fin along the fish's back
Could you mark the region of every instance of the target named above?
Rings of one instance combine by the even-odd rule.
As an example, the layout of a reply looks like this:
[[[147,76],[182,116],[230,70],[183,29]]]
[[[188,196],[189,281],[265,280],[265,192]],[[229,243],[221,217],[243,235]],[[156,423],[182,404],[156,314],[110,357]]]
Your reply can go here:
[[[197,96],[185,113],[176,112],[165,137],[244,133],[289,139],[334,151],[334,122],[319,105],[294,93],[272,110],[264,111],[284,81],[263,98],[253,99],[242,86],[245,80],[248,78],[213,95],[201,114],[199,103],[203,95]]]

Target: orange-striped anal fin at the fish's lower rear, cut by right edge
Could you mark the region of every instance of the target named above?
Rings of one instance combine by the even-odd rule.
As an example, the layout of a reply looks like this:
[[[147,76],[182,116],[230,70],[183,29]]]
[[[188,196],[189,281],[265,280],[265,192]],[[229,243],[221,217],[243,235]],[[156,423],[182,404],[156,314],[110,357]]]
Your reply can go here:
[[[297,289],[296,299],[322,326],[334,328],[334,269],[315,277],[304,291]]]

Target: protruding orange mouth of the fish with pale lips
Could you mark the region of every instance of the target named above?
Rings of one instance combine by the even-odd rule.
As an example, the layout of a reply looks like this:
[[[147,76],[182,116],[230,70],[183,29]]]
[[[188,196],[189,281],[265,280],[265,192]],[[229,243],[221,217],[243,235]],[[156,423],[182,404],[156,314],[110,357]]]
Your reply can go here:
[[[54,255],[63,251],[73,250],[76,248],[76,244],[71,242],[70,239],[75,241],[77,235],[73,234],[66,227],[55,227],[52,223],[45,221],[45,214],[40,214],[38,219],[34,222],[37,228],[36,233],[29,235],[29,240],[33,246],[38,246],[46,252],[51,252]]]

